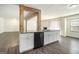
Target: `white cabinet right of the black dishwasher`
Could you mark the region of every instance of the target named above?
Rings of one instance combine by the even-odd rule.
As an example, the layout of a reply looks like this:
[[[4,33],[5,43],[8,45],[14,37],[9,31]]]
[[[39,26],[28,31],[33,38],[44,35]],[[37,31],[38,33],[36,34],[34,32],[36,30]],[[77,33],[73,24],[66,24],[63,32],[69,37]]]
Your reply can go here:
[[[57,41],[57,34],[56,31],[44,32],[44,45]]]

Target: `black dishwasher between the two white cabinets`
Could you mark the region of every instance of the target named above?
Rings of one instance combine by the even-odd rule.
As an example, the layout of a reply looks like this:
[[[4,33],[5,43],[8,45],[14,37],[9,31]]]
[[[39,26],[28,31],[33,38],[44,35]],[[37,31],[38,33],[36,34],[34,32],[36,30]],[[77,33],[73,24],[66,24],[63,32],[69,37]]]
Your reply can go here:
[[[34,32],[34,49],[44,45],[44,32]]]

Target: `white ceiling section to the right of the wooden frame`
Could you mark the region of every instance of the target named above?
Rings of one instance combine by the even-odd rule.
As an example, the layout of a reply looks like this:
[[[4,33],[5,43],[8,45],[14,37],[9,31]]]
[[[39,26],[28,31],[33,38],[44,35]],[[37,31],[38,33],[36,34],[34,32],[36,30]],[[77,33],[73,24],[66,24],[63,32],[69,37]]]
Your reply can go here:
[[[42,19],[51,19],[79,13],[79,6],[71,8],[68,4],[26,4],[41,10]]]

